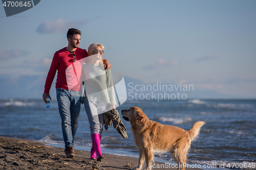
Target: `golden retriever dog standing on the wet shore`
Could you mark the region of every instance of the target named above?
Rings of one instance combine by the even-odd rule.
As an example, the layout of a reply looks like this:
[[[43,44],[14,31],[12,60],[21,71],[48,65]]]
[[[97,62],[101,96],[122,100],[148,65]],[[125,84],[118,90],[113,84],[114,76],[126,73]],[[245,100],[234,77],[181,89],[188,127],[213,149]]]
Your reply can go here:
[[[178,169],[186,168],[186,155],[191,141],[199,134],[205,122],[197,122],[186,131],[184,129],[162,125],[147,118],[139,107],[122,110],[123,119],[131,123],[134,144],[139,149],[139,164],[133,169],[141,169],[146,160],[146,169],[151,169],[154,153],[170,152],[174,157]]]

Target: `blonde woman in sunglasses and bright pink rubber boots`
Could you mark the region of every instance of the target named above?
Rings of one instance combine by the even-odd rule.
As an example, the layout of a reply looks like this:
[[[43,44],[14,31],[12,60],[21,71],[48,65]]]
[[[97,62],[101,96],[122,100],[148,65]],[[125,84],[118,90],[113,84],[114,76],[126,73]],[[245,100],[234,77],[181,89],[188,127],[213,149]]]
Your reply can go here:
[[[92,138],[91,159],[101,161],[103,155],[100,140],[103,132],[105,111],[115,109],[115,92],[111,71],[105,70],[102,55],[104,46],[93,43],[88,47],[88,63],[83,65],[84,108],[86,110]]]

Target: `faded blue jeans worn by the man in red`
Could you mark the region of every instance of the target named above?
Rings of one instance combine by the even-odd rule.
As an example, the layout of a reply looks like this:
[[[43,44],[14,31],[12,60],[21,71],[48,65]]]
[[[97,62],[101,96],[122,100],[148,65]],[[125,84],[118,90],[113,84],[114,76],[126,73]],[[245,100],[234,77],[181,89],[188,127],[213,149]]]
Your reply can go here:
[[[74,147],[74,137],[78,126],[82,91],[56,89],[62,134],[65,147]]]

